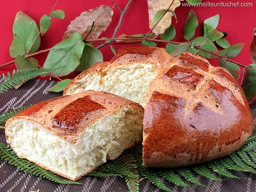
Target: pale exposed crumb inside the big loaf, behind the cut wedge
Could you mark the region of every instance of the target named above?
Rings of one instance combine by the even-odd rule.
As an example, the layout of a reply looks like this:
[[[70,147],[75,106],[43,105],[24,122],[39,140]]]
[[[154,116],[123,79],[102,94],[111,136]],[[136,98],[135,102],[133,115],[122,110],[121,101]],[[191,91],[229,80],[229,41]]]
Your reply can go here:
[[[87,74],[77,80],[66,94],[84,90],[105,91],[130,99],[145,107],[149,83],[155,77],[156,67],[152,64],[132,64],[107,73]]]

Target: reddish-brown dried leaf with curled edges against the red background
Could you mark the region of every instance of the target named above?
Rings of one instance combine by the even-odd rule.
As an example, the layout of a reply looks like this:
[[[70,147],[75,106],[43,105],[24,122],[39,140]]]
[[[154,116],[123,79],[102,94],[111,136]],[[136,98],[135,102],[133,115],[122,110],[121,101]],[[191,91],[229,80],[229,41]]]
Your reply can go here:
[[[68,29],[64,33],[63,40],[68,39],[72,33],[79,33],[83,40],[88,36],[88,26],[92,26],[93,20],[94,29],[90,32],[86,39],[97,39],[102,32],[108,28],[113,16],[113,10],[106,5],[101,5],[95,9],[82,12],[80,16],[76,17],[68,26]],[[97,27],[101,26],[101,27]]]

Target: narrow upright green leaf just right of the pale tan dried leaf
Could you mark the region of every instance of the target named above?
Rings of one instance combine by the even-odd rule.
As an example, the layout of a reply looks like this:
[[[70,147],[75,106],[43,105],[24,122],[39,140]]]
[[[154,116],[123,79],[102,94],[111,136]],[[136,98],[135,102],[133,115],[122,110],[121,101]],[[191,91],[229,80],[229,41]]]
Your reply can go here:
[[[197,26],[198,26],[198,20],[197,20],[196,13],[193,10],[190,10],[188,12],[188,15],[186,17],[186,21],[183,27],[183,31],[184,31],[183,37],[188,41],[191,40],[195,35]]]

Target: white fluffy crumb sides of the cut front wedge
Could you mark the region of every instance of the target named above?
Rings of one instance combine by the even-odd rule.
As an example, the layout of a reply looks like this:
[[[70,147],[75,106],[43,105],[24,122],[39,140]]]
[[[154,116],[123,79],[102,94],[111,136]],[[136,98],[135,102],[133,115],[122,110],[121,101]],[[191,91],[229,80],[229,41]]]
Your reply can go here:
[[[90,125],[79,134],[76,143],[63,140],[41,125],[22,118],[12,121],[6,136],[20,158],[78,180],[139,142],[142,116],[140,110],[124,107]]]

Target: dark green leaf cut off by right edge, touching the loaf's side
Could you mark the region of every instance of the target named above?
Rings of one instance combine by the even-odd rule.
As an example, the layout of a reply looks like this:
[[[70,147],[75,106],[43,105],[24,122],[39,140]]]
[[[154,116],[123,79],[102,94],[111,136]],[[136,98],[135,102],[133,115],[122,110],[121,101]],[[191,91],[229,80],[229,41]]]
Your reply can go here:
[[[256,100],[256,64],[250,64],[244,69],[242,88],[249,103]]]

